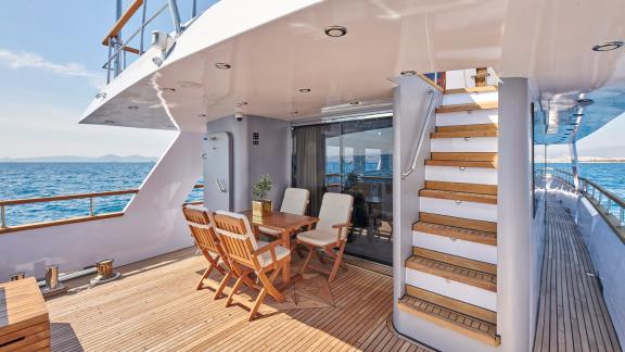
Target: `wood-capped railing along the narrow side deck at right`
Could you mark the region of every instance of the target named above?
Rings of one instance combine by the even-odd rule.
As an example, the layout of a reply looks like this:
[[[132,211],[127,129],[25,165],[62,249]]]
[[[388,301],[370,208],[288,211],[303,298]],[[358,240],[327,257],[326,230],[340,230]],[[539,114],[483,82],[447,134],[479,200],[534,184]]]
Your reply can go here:
[[[547,168],[547,176],[551,175],[574,187],[573,174],[558,168]],[[579,179],[579,192],[584,194],[595,205],[597,211],[608,219],[608,223],[614,224],[618,230],[625,229],[625,201],[618,196],[612,193],[605,188],[585,178]]]

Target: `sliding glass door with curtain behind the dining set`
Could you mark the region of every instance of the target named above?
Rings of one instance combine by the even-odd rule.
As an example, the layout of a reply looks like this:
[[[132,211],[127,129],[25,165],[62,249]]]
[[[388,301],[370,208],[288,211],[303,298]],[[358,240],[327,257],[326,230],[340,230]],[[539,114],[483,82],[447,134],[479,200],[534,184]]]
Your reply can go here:
[[[295,127],[293,185],[311,191],[312,215],[324,192],[352,194],[353,227],[345,251],[392,264],[392,117]]]

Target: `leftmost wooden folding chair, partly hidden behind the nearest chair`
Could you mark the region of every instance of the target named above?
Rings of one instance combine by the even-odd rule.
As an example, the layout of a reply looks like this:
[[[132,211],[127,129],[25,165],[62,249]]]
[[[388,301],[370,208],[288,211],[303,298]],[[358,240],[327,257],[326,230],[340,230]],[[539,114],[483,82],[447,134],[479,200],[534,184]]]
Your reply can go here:
[[[191,237],[195,240],[195,246],[208,262],[208,267],[204,272],[204,275],[202,275],[202,278],[200,278],[196,289],[201,290],[204,287],[204,279],[208,278],[214,269],[224,275],[215,292],[215,300],[217,300],[221,298],[230,278],[239,278],[238,272],[232,267],[228,255],[224,252],[221,243],[219,243],[219,239],[215,234],[212,221],[213,213],[203,206],[196,205],[183,206],[182,213],[184,214],[184,218],[187,218],[187,224],[189,224]],[[219,260],[221,260],[222,265],[219,264]],[[244,284],[251,287],[254,286],[252,280],[246,280]]]

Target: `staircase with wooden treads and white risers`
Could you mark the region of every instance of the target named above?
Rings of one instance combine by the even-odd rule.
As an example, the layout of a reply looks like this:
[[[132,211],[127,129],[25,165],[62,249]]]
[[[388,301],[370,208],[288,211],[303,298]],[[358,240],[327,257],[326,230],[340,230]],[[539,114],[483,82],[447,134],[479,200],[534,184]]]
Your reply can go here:
[[[497,88],[445,91],[398,307],[489,345],[497,335]]]

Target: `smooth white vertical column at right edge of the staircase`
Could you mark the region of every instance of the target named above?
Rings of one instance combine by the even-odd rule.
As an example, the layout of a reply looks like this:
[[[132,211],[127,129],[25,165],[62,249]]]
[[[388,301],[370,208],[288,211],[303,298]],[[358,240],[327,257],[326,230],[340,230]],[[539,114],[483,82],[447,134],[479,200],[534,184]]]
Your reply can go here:
[[[526,78],[499,86],[497,329],[502,351],[530,351],[532,123]]]

